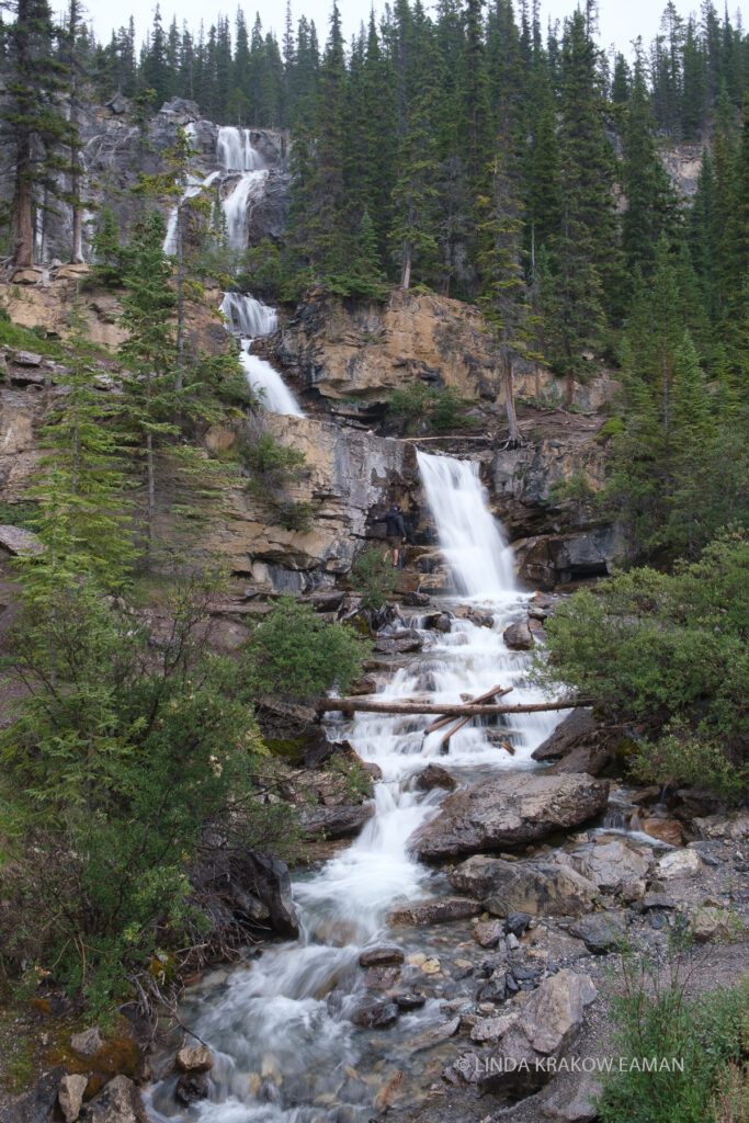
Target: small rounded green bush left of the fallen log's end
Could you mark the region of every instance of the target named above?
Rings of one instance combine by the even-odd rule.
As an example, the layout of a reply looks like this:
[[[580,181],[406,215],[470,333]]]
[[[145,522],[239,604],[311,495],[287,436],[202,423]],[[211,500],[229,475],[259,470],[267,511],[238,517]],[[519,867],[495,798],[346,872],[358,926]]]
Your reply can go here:
[[[342,694],[362,673],[368,647],[350,628],[321,620],[310,604],[282,596],[247,643],[248,681],[263,694],[318,697]]]

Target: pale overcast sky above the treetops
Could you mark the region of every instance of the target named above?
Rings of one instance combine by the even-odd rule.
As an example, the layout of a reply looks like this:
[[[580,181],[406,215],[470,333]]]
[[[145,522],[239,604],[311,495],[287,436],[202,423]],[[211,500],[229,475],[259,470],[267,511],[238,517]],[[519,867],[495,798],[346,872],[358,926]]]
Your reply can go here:
[[[713,0],[720,16],[723,15],[723,0]],[[741,20],[747,26],[747,4],[749,0],[729,0],[728,9],[731,21],[736,24],[736,12],[741,11]],[[53,7],[55,7],[53,4]],[[93,24],[97,38],[107,42],[112,29],[127,24],[130,13],[135,18],[136,33],[138,38],[145,34],[153,20],[154,0],[129,0],[121,8],[113,6],[110,0],[88,0],[88,11],[90,21]],[[252,27],[255,22],[255,13],[259,12],[264,31],[274,30],[278,40],[283,35],[285,24],[286,0],[216,0],[210,6],[203,0],[161,0],[162,19],[164,26],[168,26],[172,17],[176,13],[177,24],[182,20],[195,30],[201,19],[209,27],[218,15],[234,17],[237,7],[245,11],[247,24]],[[339,9],[344,22],[344,31],[349,38],[358,30],[359,24],[365,24],[369,18],[372,0],[339,0]],[[429,0],[426,2],[428,9],[431,8]],[[541,0],[541,26],[546,34],[546,26],[549,19],[563,20],[569,16],[576,7],[576,0]],[[658,33],[660,17],[666,0],[599,0],[599,42],[604,49],[614,44],[618,51],[625,55],[631,54],[631,43],[641,35],[646,45]],[[686,18],[689,12],[698,11],[700,0],[675,0],[675,7],[681,16]],[[318,29],[320,43],[323,44],[328,34],[328,19],[330,16],[331,0],[291,0],[292,21],[294,28],[301,16],[307,16],[309,20],[314,20]],[[375,13],[384,8],[384,0],[374,0]]]

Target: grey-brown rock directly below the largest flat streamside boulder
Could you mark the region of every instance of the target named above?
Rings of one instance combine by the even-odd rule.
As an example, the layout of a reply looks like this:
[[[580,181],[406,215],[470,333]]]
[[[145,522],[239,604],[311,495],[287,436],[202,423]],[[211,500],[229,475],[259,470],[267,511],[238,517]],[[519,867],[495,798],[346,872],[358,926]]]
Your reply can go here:
[[[496,916],[509,913],[578,916],[593,907],[597,895],[593,882],[572,867],[550,861],[515,862],[474,855],[456,866],[449,878],[456,889],[481,896],[484,906]]]

